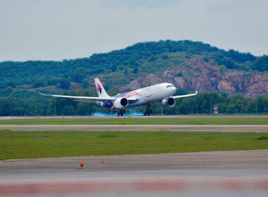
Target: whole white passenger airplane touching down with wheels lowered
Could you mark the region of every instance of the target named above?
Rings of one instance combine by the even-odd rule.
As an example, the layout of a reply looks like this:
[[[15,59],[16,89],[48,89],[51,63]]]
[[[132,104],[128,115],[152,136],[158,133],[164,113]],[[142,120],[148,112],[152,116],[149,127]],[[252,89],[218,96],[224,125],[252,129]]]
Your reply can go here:
[[[145,87],[142,89],[136,89],[134,91],[129,91],[123,94],[116,94],[115,96],[109,96],[102,83],[99,81],[99,78],[95,79],[95,86],[99,97],[90,97],[90,96],[65,96],[65,95],[54,95],[54,94],[42,94],[43,96],[53,96],[61,98],[73,98],[74,101],[82,102],[92,102],[97,103],[97,105],[104,108],[118,110],[118,116],[123,116],[126,113],[125,108],[133,108],[140,106],[147,106],[144,115],[149,116],[152,113],[150,109],[151,103],[154,101],[161,102],[162,107],[170,108],[175,106],[176,98],[183,98],[188,96],[197,95],[195,94],[186,94],[181,96],[173,96],[176,91],[176,87],[170,83],[161,83],[156,84],[150,87]]]

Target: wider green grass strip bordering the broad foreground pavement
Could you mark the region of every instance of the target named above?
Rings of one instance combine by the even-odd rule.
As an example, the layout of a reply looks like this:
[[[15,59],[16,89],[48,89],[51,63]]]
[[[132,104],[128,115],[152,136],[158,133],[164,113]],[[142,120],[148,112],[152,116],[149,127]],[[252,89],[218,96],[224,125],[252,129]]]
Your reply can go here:
[[[0,131],[0,159],[267,149],[268,133]]]

